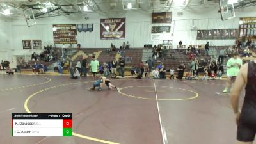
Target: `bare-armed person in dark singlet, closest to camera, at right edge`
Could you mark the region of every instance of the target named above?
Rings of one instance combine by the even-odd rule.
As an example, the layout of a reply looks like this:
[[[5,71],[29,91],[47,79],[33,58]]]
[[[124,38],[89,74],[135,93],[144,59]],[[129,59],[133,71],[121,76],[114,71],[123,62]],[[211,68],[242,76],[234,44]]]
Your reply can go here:
[[[241,113],[239,96],[245,87],[245,96]],[[231,93],[231,104],[236,115],[237,141],[240,144],[252,144],[256,134],[256,60],[241,67]]]

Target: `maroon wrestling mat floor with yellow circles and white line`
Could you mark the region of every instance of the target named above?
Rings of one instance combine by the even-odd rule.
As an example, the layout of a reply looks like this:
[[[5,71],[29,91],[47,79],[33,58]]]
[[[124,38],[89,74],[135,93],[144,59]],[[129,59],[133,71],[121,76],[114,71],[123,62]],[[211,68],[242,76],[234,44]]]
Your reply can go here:
[[[119,92],[89,91],[92,77],[17,74],[0,81],[0,143],[236,143],[223,80],[112,79]],[[73,113],[74,136],[12,137],[11,113],[29,112]]]

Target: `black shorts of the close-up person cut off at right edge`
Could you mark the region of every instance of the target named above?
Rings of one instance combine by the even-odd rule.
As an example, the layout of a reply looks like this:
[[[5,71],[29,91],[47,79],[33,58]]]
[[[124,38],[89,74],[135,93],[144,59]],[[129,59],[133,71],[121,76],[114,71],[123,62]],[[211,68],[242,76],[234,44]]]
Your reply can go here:
[[[251,104],[244,104],[238,126],[237,140],[241,142],[251,142],[256,134],[256,108]]]

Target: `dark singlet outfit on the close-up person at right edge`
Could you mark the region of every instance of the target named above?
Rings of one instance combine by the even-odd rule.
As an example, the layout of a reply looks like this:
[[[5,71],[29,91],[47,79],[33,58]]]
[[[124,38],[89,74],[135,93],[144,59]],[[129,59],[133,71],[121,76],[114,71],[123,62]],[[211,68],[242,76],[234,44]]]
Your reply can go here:
[[[253,141],[256,134],[256,63],[248,63],[244,104],[237,127],[237,140]]]

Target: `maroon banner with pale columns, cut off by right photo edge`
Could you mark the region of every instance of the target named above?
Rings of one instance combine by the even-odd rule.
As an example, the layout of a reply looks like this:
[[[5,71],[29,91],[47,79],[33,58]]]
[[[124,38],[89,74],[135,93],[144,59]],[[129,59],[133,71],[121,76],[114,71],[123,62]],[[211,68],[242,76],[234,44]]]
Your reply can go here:
[[[256,40],[256,17],[241,17],[239,21],[239,39]]]

